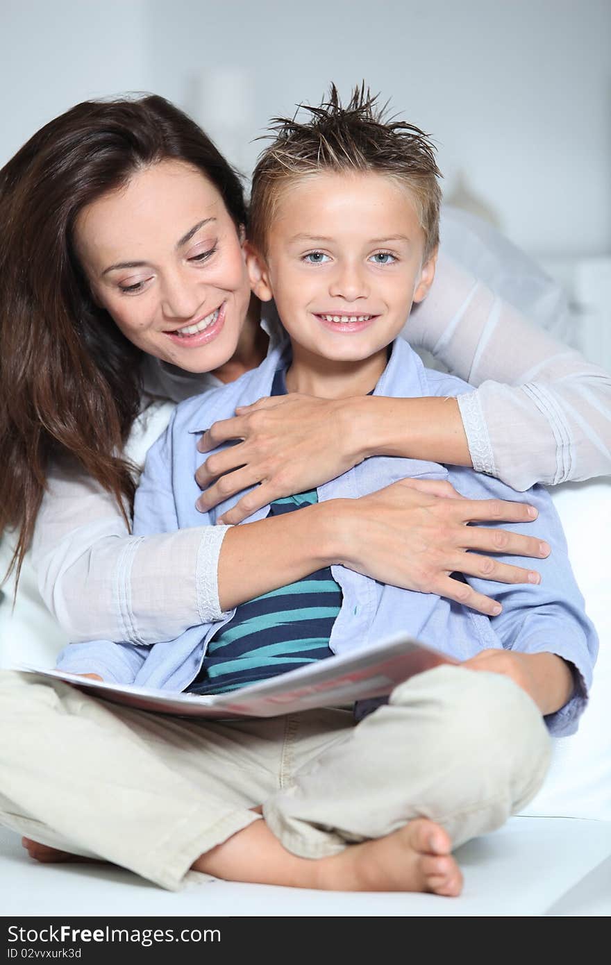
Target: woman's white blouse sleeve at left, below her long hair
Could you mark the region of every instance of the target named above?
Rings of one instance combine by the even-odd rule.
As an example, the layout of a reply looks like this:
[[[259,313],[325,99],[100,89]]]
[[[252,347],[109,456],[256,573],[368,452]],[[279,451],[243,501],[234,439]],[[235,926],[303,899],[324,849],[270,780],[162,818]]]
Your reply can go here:
[[[222,619],[216,575],[227,529],[130,536],[112,496],[64,463],[49,474],[32,563],[42,598],[71,642],[151,645]]]

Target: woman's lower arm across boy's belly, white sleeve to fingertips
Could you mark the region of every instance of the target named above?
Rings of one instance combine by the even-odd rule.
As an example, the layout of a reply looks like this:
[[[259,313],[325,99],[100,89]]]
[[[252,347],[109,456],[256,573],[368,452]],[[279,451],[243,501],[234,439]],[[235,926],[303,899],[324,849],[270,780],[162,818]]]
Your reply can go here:
[[[403,481],[361,500],[322,503],[245,526],[133,537],[113,499],[65,465],[49,476],[33,564],[42,598],[73,642],[171,640],[334,563],[491,613],[492,600],[450,574],[461,569],[527,581],[525,568],[497,564],[486,554],[504,548],[541,558],[546,548],[537,539],[464,525],[530,519],[521,504],[452,493],[446,483]]]

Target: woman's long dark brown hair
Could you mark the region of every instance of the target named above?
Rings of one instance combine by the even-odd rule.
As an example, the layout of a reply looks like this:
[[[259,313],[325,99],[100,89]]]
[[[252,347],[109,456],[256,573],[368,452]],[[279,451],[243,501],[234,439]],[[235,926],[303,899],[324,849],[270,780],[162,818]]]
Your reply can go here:
[[[236,172],[163,97],[77,104],[0,171],[0,533],[17,531],[17,578],[49,460],[71,457],[124,514],[131,504],[122,450],[139,409],[142,352],[94,302],[72,233],[83,207],[165,158],[199,168],[236,227],[245,224]]]

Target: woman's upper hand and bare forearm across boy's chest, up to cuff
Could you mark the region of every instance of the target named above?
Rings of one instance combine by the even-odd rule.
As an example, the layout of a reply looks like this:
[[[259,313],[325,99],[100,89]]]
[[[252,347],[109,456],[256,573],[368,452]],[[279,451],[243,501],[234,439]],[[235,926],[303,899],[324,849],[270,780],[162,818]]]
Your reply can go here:
[[[471,465],[456,399],[358,396],[317,399],[291,393],[239,406],[198,443],[210,455],[196,480],[206,511],[251,486],[219,522],[236,524],[274,499],[305,492],[341,476],[369,455],[399,455]]]

